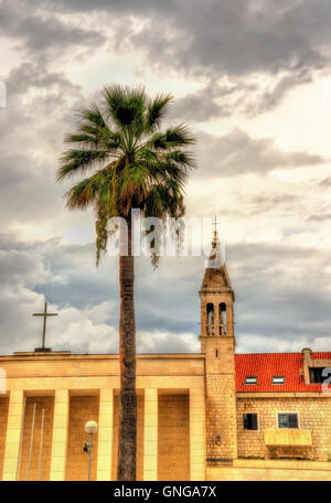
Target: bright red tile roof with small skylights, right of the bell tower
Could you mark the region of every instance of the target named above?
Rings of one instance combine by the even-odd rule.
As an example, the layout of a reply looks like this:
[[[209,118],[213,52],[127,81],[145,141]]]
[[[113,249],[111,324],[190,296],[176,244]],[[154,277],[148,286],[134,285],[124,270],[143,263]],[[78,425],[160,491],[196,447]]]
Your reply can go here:
[[[331,360],[331,353],[312,353],[312,360]],[[321,384],[305,384],[301,353],[236,354],[237,392],[320,392]],[[284,384],[271,384],[273,376],[285,376]],[[257,384],[245,384],[246,376],[256,376]]]

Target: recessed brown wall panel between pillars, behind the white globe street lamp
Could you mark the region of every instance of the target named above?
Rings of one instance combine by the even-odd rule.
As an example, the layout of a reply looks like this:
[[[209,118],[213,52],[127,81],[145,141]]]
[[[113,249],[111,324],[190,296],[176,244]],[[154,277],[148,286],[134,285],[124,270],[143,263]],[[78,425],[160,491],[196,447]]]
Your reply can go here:
[[[65,480],[84,481],[88,477],[88,453],[83,451],[84,443],[88,441],[85,432],[87,421],[99,418],[99,396],[71,396],[68,418],[68,440]],[[96,480],[98,453],[98,434],[93,437],[92,473],[90,480]]]

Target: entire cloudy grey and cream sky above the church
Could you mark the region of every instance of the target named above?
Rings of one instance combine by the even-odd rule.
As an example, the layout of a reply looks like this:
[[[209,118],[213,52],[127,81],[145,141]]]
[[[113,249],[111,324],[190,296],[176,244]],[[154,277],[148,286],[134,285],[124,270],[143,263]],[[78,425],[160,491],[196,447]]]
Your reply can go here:
[[[0,0],[0,354],[118,349],[118,264],[55,183],[107,83],[174,96],[197,138],[188,217],[225,223],[237,352],[330,351],[329,0]],[[136,260],[137,350],[199,352],[204,257]]]

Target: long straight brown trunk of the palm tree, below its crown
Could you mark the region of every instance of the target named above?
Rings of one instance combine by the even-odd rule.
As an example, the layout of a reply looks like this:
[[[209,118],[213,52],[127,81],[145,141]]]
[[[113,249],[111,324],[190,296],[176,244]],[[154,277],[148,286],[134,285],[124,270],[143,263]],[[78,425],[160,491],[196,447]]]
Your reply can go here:
[[[131,255],[131,215],[128,233],[120,229],[119,285],[119,364],[120,416],[117,480],[136,480],[137,394],[136,394],[136,323],[135,323],[135,258]],[[127,245],[127,246],[126,246]],[[127,249],[127,255],[122,255]]]

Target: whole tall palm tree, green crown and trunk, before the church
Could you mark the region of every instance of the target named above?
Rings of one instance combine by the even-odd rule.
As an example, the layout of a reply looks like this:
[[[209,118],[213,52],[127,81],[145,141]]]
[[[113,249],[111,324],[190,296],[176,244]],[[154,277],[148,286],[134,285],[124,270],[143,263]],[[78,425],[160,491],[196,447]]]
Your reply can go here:
[[[106,252],[111,217],[127,222],[120,243],[128,254],[119,256],[120,318],[120,425],[117,478],[136,480],[136,327],[134,304],[134,256],[131,255],[131,211],[164,220],[184,214],[183,189],[194,165],[188,147],[195,142],[183,125],[161,130],[171,95],[147,96],[143,87],[104,87],[103,104],[79,111],[75,143],[65,151],[57,181],[89,174],[66,193],[70,210],[93,206],[96,220],[96,260]],[[88,173],[89,172],[89,173]]]

